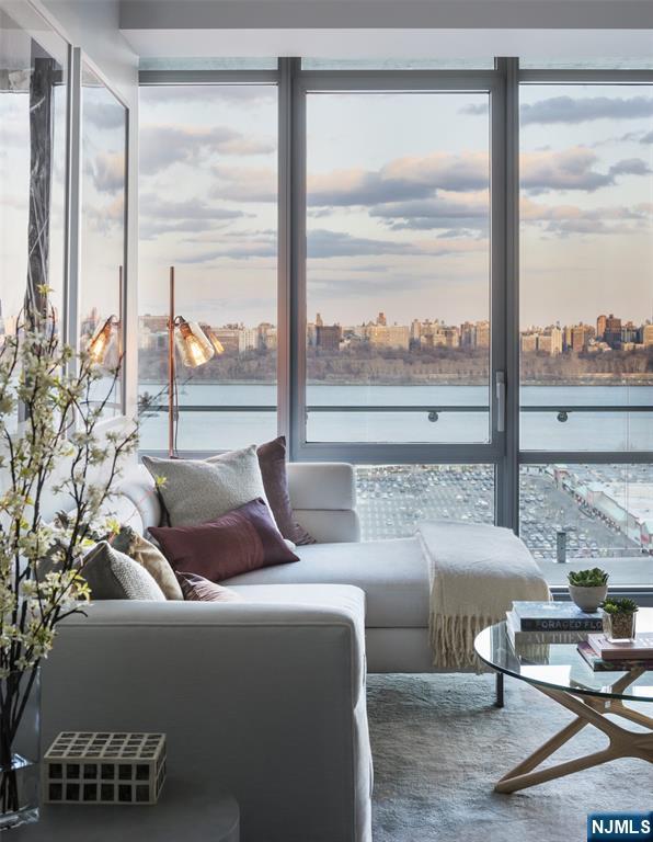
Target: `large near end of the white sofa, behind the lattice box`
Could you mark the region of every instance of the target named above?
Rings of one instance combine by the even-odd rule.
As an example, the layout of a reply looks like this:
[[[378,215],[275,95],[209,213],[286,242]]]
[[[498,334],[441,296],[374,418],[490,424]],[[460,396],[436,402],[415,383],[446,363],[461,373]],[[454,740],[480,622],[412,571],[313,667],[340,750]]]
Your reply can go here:
[[[44,747],[61,730],[162,731],[171,774],[234,794],[243,842],[367,842],[364,598],[331,588],[340,606],[311,604],[310,585],[90,605],[44,665]]]

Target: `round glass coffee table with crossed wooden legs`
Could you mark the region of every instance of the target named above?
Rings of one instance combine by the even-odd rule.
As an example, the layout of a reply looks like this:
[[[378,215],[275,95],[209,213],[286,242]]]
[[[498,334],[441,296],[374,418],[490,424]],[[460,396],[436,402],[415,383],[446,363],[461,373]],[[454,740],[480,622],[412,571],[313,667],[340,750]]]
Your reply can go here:
[[[653,608],[640,608],[638,632],[653,632]],[[634,668],[629,672],[594,672],[577,651],[576,644],[528,644],[515,651],[505,623],[496,623],[481,632],[474,649],[479,658],[497,673],[532,684],[575,714],[568,726],[504,775],[495,785],[495,792],[526,789],[618,758],[639,758],[653,763],[653,706],[646,715],[626,704],[653,703],[653,671]],[[645,730],[622,728],[606,714],[635,722]],[[606,735],[609,740],[606,749],[538,769],[588,725]]]

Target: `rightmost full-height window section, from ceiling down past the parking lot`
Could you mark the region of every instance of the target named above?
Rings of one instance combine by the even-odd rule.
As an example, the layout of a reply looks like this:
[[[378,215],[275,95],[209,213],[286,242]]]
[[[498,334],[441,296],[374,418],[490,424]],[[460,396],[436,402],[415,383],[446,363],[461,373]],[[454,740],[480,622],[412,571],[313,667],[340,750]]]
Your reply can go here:
[[[653,525],[653,86],[605,76],[519,91],[520,534],[632,581]]]

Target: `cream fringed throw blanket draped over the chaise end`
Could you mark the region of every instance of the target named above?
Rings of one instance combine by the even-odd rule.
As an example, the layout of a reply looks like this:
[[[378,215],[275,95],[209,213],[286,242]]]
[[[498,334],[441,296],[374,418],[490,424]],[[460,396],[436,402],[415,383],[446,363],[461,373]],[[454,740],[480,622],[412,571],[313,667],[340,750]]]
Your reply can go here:
[[[515,600],[549,600],[547,582],[509,530],[431,521],[417,534],[431,569],[433,665],[478,670],[473,641],[479,632],[505,619]]]

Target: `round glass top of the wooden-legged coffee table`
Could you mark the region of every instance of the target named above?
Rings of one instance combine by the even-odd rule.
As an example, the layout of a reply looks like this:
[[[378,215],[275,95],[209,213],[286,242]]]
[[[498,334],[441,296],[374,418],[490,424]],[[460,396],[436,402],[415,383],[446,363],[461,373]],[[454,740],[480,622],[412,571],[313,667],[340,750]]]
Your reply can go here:
[[[653,608],[640,608],[638,632],[653,632]],[[653,671],[594,672],[576,644],[526,644],[515,650],[505,623],[483,629],[474,640],[479,658],[492,669],[530,684],[576,695],[653,702]]]

